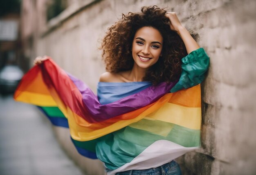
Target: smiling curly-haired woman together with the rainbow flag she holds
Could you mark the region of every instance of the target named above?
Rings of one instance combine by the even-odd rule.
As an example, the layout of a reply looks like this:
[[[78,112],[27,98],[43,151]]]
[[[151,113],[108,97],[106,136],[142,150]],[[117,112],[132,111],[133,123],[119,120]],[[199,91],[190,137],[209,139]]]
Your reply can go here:
[[[15,99],[61,110],[51,117],[67,118],[78,152],[104,162],[108,175],[180,175],[174,159],[200,146],[198,84],[209,57],[175,12],[156,6],[123,14],[102,49],[107,72],[97,96],[46,56]]]

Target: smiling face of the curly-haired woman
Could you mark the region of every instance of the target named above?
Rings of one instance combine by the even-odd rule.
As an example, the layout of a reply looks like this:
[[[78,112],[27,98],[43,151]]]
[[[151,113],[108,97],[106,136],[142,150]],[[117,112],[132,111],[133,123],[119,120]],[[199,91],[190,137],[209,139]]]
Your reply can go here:
[[[163,37],[153,27],[141,27],[135,34],[132,41],[132,57],[134,66],[147,69],[154,65],[163,47]]]

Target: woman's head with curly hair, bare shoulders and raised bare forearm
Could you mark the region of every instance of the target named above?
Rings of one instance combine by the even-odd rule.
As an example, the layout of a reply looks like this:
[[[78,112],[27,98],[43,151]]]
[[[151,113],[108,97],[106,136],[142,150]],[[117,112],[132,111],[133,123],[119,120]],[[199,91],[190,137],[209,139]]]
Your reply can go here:
[[[199,48],[175,12],[167,13],[158,7],[142,7],[141,12],[123,14],[109,28],[102,43],[107,72],[100,81],[150,81],[154,85],[172,82],[181,75],[181,59]],[[148,60],[152,54],[156,57]],[[150,66],[137,69],[135,63],[145,63],[141,68]]]

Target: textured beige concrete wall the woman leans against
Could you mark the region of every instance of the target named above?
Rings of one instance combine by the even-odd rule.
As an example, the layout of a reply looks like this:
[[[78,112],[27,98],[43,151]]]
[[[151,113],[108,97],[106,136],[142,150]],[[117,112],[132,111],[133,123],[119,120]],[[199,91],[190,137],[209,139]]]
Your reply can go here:
[[[142,6],[156,4],[176,11],[182,24],[199,34],[199,45],[211,57],[208,76],[202,83],[202,146],[177,159],[182,172],[256,174],[255,0],[101,0],[88,7],[81,3],[74,0],[73,10],[79,4],[84,8],[71,16],[67,14],[72,8],[68,8],[64,11],[67,18],[62,13],[42,27],[35,43],[36,55],[52,56],[95,92],[104,72],[97,47],[107,27],[121,13],[139,11]],[[91,166],[101,165],[99,162],[88,163],[90,160],[75,153],[67,131],[56,128],[56,134],[88,174],[103,174],[103,168],[94,171]]]

